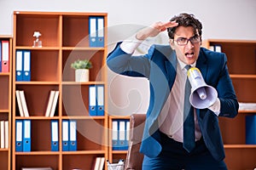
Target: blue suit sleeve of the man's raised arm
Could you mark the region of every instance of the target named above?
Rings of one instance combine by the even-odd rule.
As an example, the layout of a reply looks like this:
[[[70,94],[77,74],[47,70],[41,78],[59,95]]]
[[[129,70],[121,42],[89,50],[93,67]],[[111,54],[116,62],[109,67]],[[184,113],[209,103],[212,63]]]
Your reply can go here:
[[[127,54],[120,48],[120,44],[121,42],[118,42],[113,51],[108,54],[108,68],[120,75],[148,77],[150,65],[147,56]]]

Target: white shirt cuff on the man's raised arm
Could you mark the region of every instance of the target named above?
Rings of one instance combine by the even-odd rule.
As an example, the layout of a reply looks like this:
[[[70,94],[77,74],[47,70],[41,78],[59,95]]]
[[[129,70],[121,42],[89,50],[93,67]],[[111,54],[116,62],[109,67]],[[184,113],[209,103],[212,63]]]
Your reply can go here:
[[[138,40],[136,38],[136,35],[132,36],[131,39],[125,40],[121,43],[120,48],[126,53],[126,54],[133,54],[136,50],[136,48],[143,42],[143,40]]]

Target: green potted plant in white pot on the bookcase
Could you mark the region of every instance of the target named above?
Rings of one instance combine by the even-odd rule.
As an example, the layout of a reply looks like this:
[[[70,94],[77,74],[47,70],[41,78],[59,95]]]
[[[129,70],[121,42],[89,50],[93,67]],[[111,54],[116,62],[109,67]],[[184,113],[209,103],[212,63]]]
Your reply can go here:
[[[75,70],[76,82],[89,82],[89,70],[92,68],[89,59],[77,59],[71,64],[71,68]]]

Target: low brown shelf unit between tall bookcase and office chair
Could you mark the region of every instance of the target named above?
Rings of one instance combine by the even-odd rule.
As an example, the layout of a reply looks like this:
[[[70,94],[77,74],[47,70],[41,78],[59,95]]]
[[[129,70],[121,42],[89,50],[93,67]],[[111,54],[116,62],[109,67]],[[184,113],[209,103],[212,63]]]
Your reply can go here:
[[[109,120],[109,161],[111,163],[117,163],[120,159],[125,160],[126,159],[126,154],[127,154],[127,150],[112,150],[112,122],[113,120],[130,120],[130,116],[108,116],[108,120]]]

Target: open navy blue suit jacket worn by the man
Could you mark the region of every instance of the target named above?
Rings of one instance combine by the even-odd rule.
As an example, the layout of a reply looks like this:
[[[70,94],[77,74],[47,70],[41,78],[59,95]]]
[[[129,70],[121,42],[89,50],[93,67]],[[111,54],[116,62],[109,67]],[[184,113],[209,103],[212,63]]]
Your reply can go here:
[[[158,156],[161,141],[157,117],[175,81],[176,53],[169,45],[153,45],[148,54],[132,56],[126,54],[119,44],[120,42],[108,54],[108,67],[118,74],[148,78],[150,99],[140,151],[149,157]],[[218,92],[221,105],[219,116],[235,117],[239,105],[229,76],[226,55],[201,48],[196,67],[201,71],[207,85],[216,88]],[[218,116],[208,109],[196,109],[196,114],[207,149],[216,160],[223,160],[224,144],[218,126]]]

